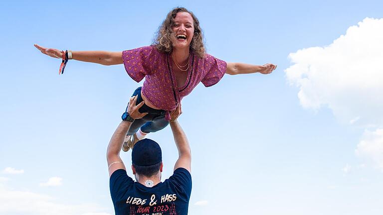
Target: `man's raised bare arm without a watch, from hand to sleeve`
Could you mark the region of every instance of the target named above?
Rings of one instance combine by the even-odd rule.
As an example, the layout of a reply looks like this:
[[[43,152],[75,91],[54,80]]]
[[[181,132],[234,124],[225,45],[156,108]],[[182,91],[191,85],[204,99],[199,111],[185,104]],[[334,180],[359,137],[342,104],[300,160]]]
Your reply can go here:
[[[174,170],[177,168],[183,167],[187,169],[190,173],[192,172],[192,152],[190,149],[188,138],[181,125],[177,121],[177,117],[182,113],[181,104],[177,109],[172,112],[172,119],[174,121],[170,121],[170,127],[172,128],[174,141],[176,142],[176,146],[178,149],[178,160],[174,165]]]

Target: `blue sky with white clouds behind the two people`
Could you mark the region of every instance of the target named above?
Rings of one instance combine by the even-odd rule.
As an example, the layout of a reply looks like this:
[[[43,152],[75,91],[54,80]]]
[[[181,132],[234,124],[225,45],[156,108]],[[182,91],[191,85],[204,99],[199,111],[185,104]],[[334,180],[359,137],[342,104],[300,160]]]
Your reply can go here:
[[[109,51],[146,46],[178,5],[198,17],[209,54],[278,65],[270,75],[225,75],[183,100],[180,123],[193,159],[190,214],[382,214],[382,54],[371,54],[382,45],[366,35],[383,39],[383,28],[365,20],[383,18],[381,1],[0,5],[0,214],[114,214],[106,147],[142,83],[122,65],[76,61],[58,76],[60,60],[33,44]],[[360,27],[353,33],[351,26]],[[349,55],[354,52],[358,58]],[[163,148],[168,178],[177,159],[171,130],[149,137]],[[130,153],[122,156],[129,166]],[[59,179],[47,183],[52,177]]]

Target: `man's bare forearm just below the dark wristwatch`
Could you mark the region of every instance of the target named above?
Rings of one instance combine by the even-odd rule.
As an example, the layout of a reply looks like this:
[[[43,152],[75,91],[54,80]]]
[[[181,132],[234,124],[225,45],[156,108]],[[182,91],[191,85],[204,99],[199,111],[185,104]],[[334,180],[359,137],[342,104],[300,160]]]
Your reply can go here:
[[[124,140],[126,137],[126,133],[128,132],[130,125],[132,122],[122,121],[116,130],[113,133],[112,138],[110,139],[108,150],[107,150],[107,158],[114,155],[119,155],[121,151],[122,144],[124,144]]]

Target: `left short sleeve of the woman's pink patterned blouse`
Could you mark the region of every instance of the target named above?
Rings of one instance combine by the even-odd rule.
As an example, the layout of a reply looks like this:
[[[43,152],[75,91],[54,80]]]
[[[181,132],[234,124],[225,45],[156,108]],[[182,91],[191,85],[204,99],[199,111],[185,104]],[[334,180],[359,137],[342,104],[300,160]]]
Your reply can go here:
[[[145,46],[122,52],[125,70],[136,82],[153,74],[159,56],[160,52],[155,46]]]

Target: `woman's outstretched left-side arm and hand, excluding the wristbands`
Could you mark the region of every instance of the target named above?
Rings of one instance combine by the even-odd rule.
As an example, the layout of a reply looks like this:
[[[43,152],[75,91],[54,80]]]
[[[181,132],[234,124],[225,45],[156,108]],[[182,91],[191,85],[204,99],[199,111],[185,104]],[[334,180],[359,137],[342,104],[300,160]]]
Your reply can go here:
[[[54,58],[62,58],[62,53],[58,49],[45,48],[34,44],[39,51]],[[122,64],[122,52],[108,51],[72,51],[72,60],[98,63],[106,66]]]

